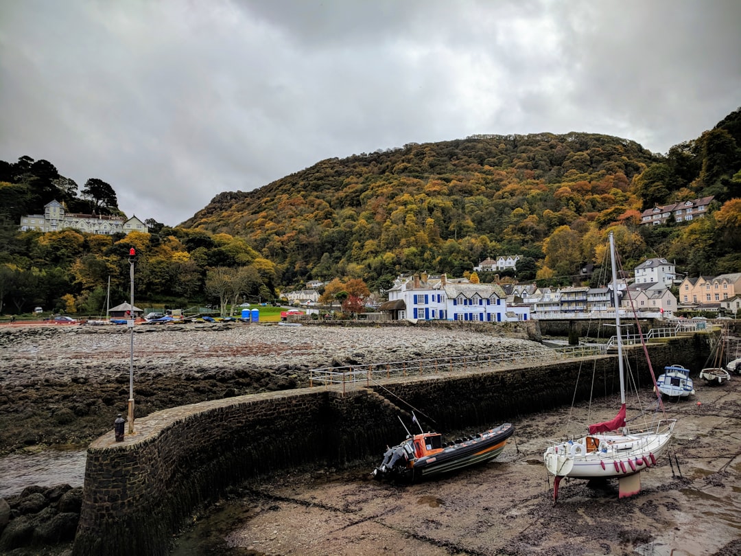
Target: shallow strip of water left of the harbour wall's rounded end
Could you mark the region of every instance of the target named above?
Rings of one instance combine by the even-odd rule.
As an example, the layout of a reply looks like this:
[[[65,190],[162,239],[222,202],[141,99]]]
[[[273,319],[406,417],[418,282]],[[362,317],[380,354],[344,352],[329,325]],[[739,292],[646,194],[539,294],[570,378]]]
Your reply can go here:
[[[85,450],[47,450],[0,457],[0,497],[20,494],[27,486],[82,486]]]

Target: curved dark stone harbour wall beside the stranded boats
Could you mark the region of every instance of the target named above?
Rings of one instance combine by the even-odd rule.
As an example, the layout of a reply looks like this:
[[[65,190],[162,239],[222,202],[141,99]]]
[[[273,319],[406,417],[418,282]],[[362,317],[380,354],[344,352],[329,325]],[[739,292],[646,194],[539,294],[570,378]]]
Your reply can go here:
[[[673,363],[694,368],[708,353],[698,335],[651,345],[650,352],[657,374]],[[648,387],[640,348],[629,349],[628,359],[639,384]],[[136,420],[134,434],[123,442],[110,431],[90,445],[73,554],[166,555],[194,509],[247,477],[382,454],[402,438],[400,411],[420,408],[423,426],[439,431],[494,426],[570,403],[576,377],[593,368],[594,385],[582,380],[576,399],[586,399],[592,388],[612,394],[616,367],[616,356],[608,355],[399,377],[350,391],[315,387],[253,394],[158,411]]]

